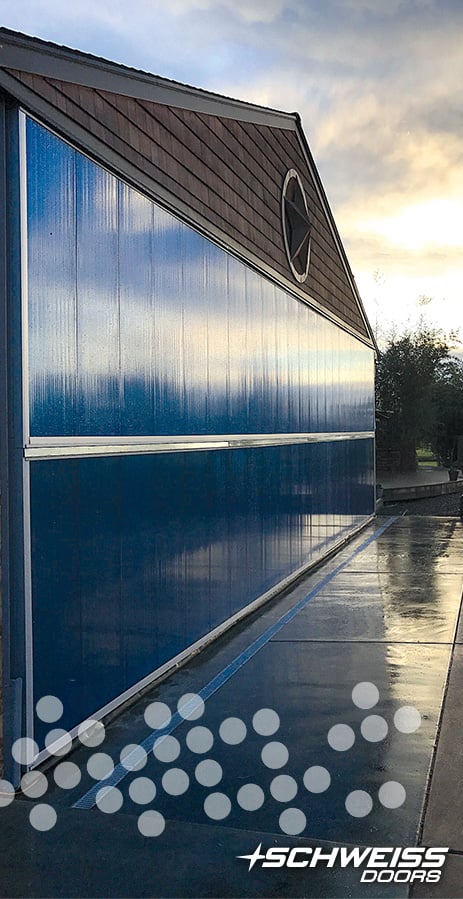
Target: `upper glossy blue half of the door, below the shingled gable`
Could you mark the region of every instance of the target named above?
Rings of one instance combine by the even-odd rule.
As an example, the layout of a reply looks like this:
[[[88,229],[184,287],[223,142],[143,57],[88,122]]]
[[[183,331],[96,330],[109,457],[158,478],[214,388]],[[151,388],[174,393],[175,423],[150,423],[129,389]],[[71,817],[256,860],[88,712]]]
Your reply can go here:
[[[373,353],[27,120],[31,434],[373,430]]]

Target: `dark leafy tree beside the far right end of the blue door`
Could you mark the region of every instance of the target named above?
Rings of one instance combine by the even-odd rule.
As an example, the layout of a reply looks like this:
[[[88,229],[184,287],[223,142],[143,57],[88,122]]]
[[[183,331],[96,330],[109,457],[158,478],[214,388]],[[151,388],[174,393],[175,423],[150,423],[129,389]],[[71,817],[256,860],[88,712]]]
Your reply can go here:
[[[416,447],[437,439],[436,384],[445,382],[454,334],[422,319],[416,331],[389,337],[376,371],[377,445],[394,451],[400,471],[416,468]],[[442,381],[439,381],[442,373]]]

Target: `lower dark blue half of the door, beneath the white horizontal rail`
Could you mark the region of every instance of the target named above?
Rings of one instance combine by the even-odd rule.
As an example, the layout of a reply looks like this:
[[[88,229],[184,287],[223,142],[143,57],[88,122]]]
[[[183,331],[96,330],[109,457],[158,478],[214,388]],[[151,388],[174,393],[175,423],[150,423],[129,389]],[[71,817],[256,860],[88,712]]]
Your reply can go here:
[[[372,456],[365,439],[34,462],[35,699],[72,727],[326,552],[371,513]]]

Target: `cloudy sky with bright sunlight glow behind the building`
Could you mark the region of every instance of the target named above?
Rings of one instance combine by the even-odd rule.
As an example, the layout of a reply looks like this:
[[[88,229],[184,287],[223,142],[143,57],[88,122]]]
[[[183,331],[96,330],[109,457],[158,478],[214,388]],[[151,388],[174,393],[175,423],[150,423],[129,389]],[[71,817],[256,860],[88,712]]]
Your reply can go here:
[[[462,0],[0,0],[0,24],[299,112],[379,342],[422,315],[463,340]]]

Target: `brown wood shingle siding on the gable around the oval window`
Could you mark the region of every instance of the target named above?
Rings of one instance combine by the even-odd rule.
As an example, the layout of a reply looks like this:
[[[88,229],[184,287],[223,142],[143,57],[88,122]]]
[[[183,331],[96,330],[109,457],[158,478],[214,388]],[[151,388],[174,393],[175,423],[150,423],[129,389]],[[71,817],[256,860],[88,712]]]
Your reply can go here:
[[[291,280],[281,232],[281,186],[302,178],[313,218],[308,296],[368,336],[296,132],[136,100],[11,71],[224,236]],[[205,152],[207,148],[207,152]]]

